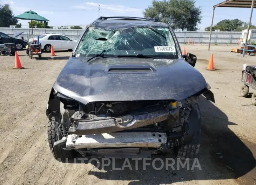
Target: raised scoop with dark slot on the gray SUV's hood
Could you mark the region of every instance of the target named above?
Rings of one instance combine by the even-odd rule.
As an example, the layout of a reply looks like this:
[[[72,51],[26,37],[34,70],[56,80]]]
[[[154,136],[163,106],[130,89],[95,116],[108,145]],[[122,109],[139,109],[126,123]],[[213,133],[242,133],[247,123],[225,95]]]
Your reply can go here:
[[[109,64],[106,65],[104,73],[156,73],[156,68],[153,65],[139,65],[139,64],[124,64],[116,65]]]

